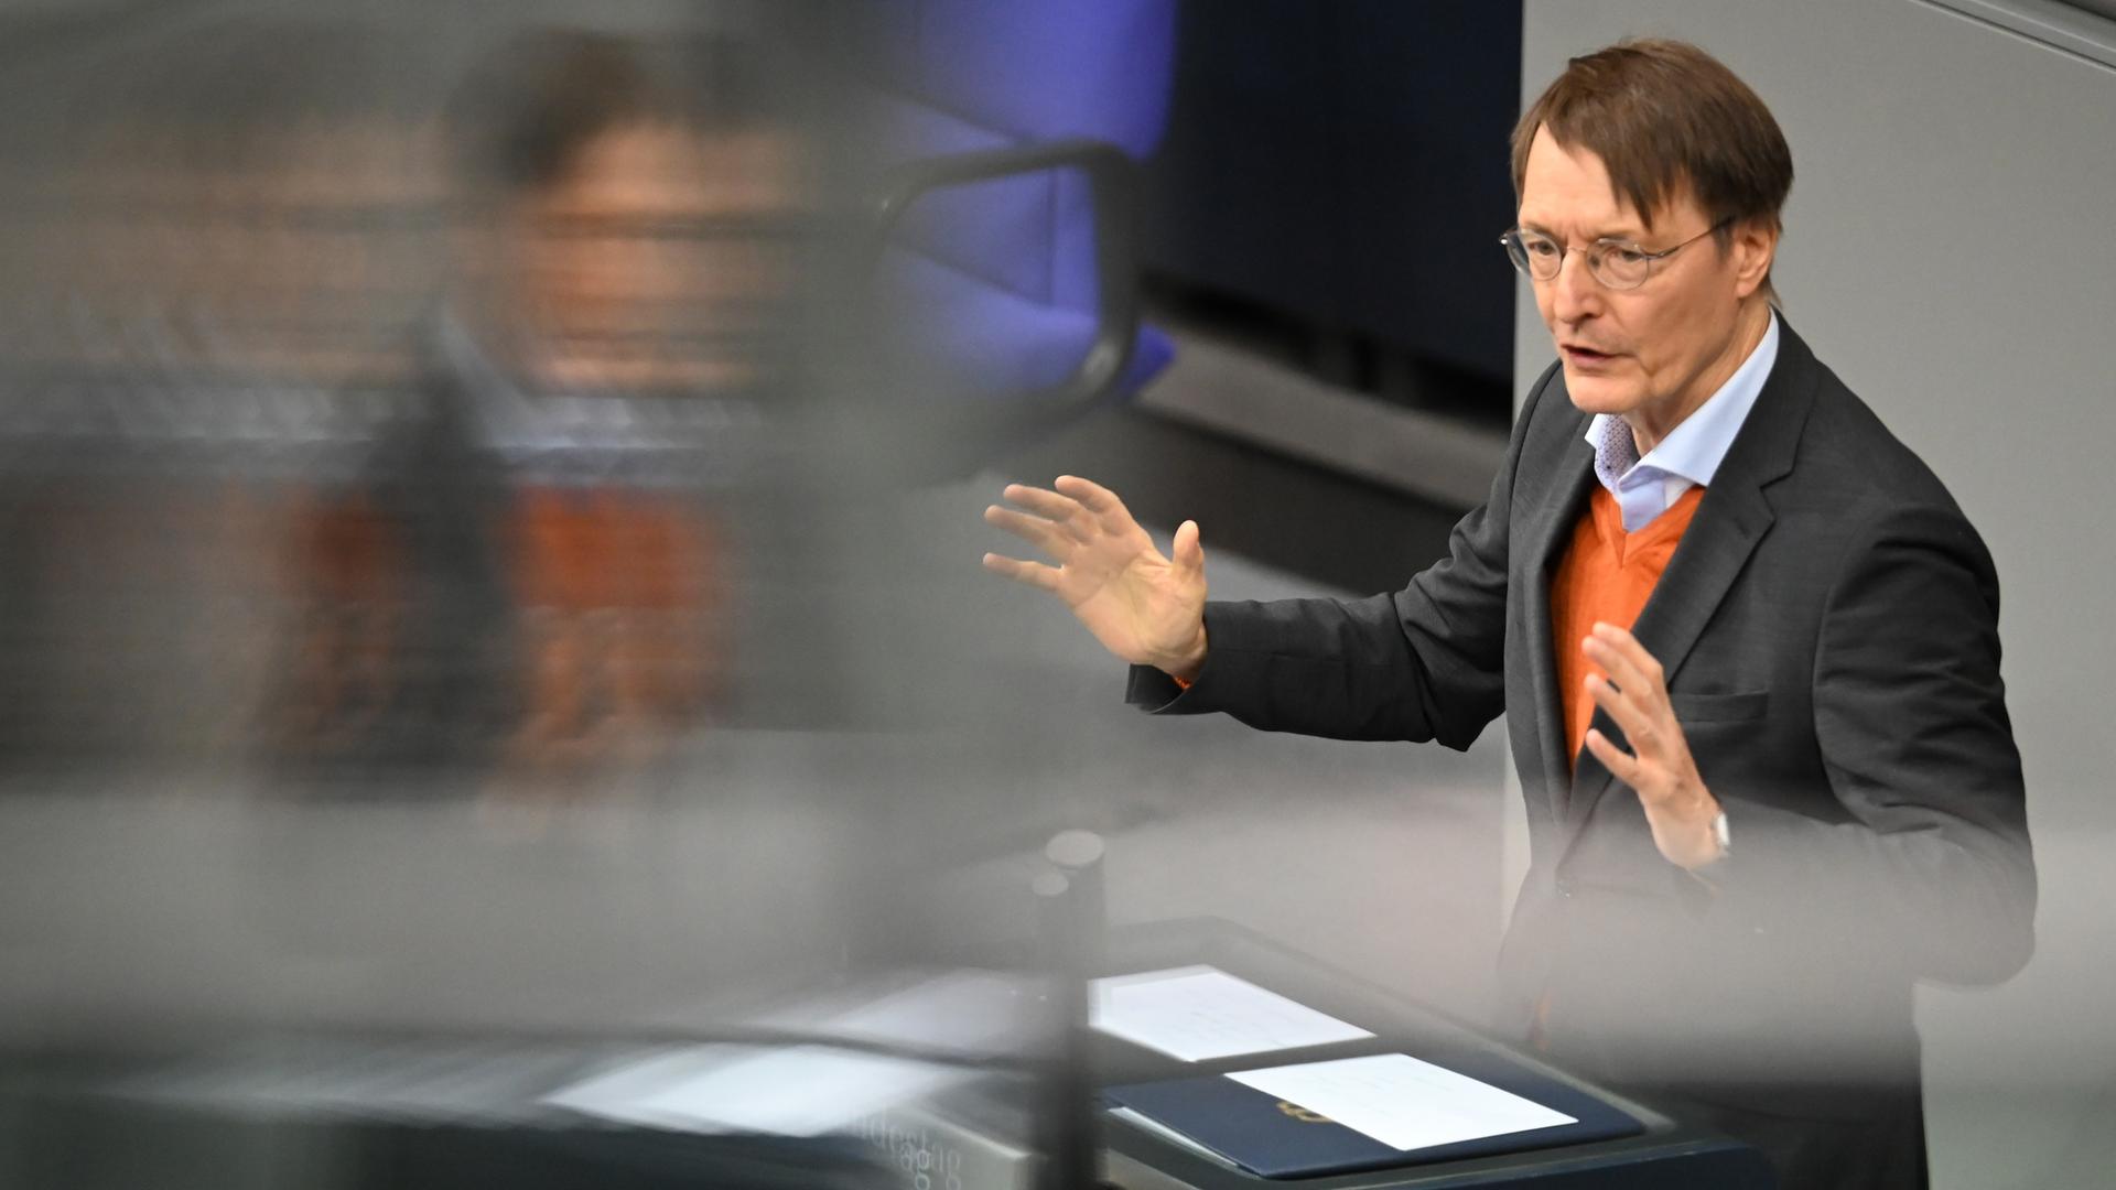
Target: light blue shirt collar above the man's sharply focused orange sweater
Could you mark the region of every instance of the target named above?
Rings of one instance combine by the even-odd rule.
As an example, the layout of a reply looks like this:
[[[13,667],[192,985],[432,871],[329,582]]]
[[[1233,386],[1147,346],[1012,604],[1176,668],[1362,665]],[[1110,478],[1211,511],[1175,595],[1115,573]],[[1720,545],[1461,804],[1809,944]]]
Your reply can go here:
[[[1763,330],[1763,341],[1741,360],[1727,383],[1718,387],[1695,413],[1667,432],[1646,457],[1638,457],[1638,440],[1631,428],[1612,413],[1595,413],[1587,421],[1587,445],[1593,447],[1593,474],[1602,487],[1617,498],[1623,510],[1623,531],[1636,534],[1667,512],[1691,487],[1712,487],[1727,447],[1748,421],[1763,381],[1771,377],[1777,362],[1777,311],[1771,326]]]

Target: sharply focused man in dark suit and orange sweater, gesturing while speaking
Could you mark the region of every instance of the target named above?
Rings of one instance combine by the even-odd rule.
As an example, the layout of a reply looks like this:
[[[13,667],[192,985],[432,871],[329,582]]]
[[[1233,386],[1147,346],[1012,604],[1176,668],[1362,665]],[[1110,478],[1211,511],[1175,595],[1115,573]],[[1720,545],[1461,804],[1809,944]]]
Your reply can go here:
[[[1913,982],[2033,946],[1991,557],[1777,318],[1790,152],[1725,66],[1572,59],[1513,172],[1559,362],[1447,559],[1394,595],[1206,603],[1196,523],[1162,557],[1064,476],[986,512],[1056,565],[986,565],[1160,711],[1454,747],[1511,714],[1532,864],[1500,1023],[1786,1186],[1923,1186]]]

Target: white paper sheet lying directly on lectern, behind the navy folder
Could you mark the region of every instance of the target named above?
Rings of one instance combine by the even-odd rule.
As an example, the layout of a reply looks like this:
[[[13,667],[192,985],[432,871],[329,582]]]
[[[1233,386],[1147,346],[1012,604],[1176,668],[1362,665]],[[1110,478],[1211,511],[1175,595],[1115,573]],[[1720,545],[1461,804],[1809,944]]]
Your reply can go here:
[[[1267,1054],[1373,1033],[1219,968],[1094,980],[1096,1029],[1183,1061]]]

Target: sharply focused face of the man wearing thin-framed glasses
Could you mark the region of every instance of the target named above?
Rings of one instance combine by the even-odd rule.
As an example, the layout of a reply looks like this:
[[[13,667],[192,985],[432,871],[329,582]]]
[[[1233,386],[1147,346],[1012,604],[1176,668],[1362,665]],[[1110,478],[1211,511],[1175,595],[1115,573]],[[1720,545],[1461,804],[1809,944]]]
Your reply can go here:
[[[1610,186],[1602,159],[1559,146],[1545,127],[1528,148],[1519,224],[1568,248],[1557,275],[1532,284],[1572,404],[1625,417],[1642,432],[1640,449],[1703,404],[1763,330],[1761,307],[1750,303],[1744,320],[1744,301],[1775,248],[1765,229],[1737,227],[1731,248],[1708,235],[1659,260],[1636,290],[1612,290],[1587,269],[1583,250],[1595,239],[1661,252],[1710,229],[1686,186],[1655,212],[1648,231]]]

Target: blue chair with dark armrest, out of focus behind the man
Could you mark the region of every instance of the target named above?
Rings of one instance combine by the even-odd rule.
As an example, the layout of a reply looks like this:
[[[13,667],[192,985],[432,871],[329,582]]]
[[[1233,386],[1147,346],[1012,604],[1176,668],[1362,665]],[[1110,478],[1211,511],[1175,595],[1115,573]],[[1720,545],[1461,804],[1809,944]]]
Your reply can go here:
[[[1168,116],[1174,0],[874,0],[884,303],[918,375],[1030,423],[1168,366],[1138,324],[1136,161]]]

